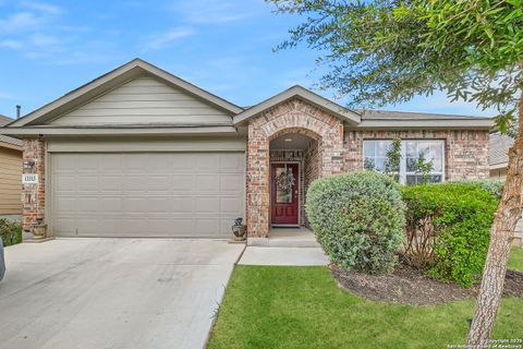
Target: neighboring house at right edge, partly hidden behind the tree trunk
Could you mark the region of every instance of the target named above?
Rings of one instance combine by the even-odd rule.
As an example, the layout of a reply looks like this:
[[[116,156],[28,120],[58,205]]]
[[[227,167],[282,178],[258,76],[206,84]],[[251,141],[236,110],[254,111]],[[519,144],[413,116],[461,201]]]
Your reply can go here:
[[[491,133],[489,140],[488,165],[490,167],[490,178],[504,180],[507,168],[509,166],[509,147],[514,144],[514,140],[499,132]],[[514,246],[523,248],[523,219],[520,219],[515,228],[515,239],[512,242]]]

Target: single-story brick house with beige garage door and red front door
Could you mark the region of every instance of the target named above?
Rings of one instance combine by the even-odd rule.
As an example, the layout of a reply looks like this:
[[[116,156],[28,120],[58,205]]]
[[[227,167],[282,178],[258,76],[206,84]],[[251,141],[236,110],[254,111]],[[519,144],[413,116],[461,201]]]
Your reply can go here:
[[[489,119],[411,112],[361,115],[300,86],[241,108],[133,60],[2,131],[24,140],[24,229],[59,237],[229,238],[306,225],[305,192],[323,176],[382,168],[404,140],[433,181],[488,178]]]

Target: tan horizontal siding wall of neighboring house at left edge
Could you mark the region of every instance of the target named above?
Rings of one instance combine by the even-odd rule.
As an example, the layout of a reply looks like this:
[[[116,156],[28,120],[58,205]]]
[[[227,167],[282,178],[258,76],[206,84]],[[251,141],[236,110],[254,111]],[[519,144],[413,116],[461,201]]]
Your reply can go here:
[[[0,215],[22,212],[22,152],[0,147]]]

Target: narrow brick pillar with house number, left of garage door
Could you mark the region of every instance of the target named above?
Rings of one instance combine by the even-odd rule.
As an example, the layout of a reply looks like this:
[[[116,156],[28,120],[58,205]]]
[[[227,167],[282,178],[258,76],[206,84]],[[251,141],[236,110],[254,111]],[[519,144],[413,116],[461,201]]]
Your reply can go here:
[[[46,215],[46,142],[39,139],[26,139],[23,144],[24,173],[38,174],[38,184],[22,185],[22,228],[32,231],[37,219],[45,220]],[[34,166],[25,164],[33,161]]]

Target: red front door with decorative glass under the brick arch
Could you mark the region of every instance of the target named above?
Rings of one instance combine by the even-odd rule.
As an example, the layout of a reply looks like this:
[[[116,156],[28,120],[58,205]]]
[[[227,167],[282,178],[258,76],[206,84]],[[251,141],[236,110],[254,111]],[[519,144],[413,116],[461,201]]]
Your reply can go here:
[[[271,224],[297,225],[297,164],[272,164],[270,170]]]

